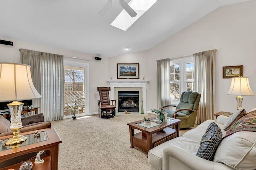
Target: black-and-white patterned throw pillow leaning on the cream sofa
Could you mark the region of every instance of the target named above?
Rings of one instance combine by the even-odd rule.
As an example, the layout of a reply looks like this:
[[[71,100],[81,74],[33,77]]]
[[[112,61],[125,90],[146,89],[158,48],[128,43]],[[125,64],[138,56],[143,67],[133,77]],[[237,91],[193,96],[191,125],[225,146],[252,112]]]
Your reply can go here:
[[[196,156],[213,160],[214,154],[221,142],[222,132],[215,122],[212,122],[202,136]]]

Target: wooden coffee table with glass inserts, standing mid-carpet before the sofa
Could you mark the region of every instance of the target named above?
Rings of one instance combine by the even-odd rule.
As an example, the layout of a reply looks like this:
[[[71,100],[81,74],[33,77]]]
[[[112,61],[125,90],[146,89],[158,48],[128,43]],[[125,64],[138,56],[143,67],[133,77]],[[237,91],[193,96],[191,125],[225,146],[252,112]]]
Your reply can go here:
[[[166,123],[160,123],[159,118],[152,119],[149,127],[144,124],[144,120],[127,123],[130,129],[131,148],[138,147],[148,154],[148,151],[161,143],[169,141],[179,136],[180,121],[179,119],[168,118]],[[175,125],[175,129],[170,126]],[[141,132],[134,134],[134,129]]]

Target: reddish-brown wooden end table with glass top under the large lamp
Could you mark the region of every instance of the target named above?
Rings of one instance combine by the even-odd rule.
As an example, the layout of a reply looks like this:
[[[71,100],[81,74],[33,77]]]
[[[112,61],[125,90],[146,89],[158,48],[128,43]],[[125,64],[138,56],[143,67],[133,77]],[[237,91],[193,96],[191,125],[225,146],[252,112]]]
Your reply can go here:
[[[0,162],[3,162],[10,158],[14,158],[16,156],[24,155],[27,153],[39,152],[40,150],[45,150],[46,156],[41,157],[41,159],[44,160],[44,163],[34,164],[35,158],[29,160],[33,163],[32,170],[58,170],[59,144],[62,142],[59,135],[56,133],[54,127],[48,128],[48,129],[40,129],[38,131],[41,132],[40,138],[42,138],[44,136],[45,140],[36,142],[36,143],[32,142],[31,144],[19,146],[19,147],[12,148],[12,149],[6,149],[6,150],[3,149],[0,151]],[[24,133],[20,133],[20,134],[21,135],[30,135],[33,133],[34,133],[34,131],[24,132]],[[12,135],[0,137],[0,140],[7,139],[9,137],[12,137]],[[32,137],[28,137],[27,142],[34,141],[33,138],[34,138],[34,135],[32,135]],[[11,166],[2,168],[0,170],[8,170],[10,168],[18,170],[22,163],[23,162],[15,164],[15,165],[11,165]]]

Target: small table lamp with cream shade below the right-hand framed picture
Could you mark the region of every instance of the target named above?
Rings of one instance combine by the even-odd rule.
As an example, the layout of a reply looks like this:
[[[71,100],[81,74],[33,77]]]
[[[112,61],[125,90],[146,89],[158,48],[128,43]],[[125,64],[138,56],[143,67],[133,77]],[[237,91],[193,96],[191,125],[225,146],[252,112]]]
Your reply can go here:
[[[236,96],[237,108],[242,109],[242,96],[254,96],[250,88],[248,77],[233,77],[231,78],[231,85],[227,94],[238,95]],[[242,95],[242,96],[241,96]]]

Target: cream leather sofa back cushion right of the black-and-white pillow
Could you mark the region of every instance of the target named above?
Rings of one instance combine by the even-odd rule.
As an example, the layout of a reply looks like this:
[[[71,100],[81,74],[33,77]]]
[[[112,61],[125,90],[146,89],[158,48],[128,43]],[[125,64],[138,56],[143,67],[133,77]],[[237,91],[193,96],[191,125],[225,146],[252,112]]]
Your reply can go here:
[[[213,161],[243,170],[256,169],[256,132],[240,131],[222,139]]]

